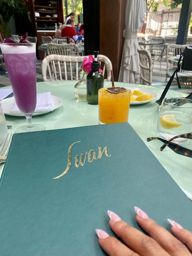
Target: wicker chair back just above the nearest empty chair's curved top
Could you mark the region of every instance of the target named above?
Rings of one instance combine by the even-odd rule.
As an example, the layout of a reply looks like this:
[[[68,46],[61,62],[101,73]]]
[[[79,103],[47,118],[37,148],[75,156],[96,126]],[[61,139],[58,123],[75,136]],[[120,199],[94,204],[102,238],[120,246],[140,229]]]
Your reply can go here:
[[[79,48],[76,44],[48,44],[47,55],[79,55]]]

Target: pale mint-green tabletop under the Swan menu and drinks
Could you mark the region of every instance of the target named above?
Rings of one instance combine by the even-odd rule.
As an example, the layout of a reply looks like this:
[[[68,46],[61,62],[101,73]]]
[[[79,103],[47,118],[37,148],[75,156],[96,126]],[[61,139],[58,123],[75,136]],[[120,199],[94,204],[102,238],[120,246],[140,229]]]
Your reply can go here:
[[[74,95],[74,85],[76,81],[57,81],[57,82],[38,82],[37,92],[51,92],[52,95],[62,100],[62,105],[43,115],[33,116],[33,123],[43,124],[46,130],[62,129],[67,127],[97,125],[98,124],[98,105],[89,105],[86,101],[79,101]],[[140,87],[154,91],[158,98],[163,89],[154,86],[127,84],[115,82],[116,86]],[[110,82],[105,82],[105,86],[111,86]],[[1,89],[0,89],[1,90]],[[169,90],[167,97],[186,97],[185,93]],[[158,140],[147,142],[148,137],[158,136],[157,118],[159,106],[155,101],[131,105],[129,113],[129,123],[139,134],[140,138],[146,143],[158,161],[165,167],[166,171],[185,190],[188,196],[192,197],[192,159],[189,157],[175,154],[171,149],[165,148],[160,151],[162,142]],[[7,125],[12,125],[9,132],[26,123],[25,117],[6,115]],[[191,127],[192,132],[192,127]],[[96,134],[97,135],[97,134]],[[129,134],[128,134],[129,135]],[[190,147],[191,141],[185,146]],[[189,146],[188,146],[189,144]],[[129,152],[127,152],[127,155]],[[137,154],[137,152],[135,152]],[[138,155],[139,161],[139,155]],[[137,163],[135,163],[137,168]],[[3,164],[0,166],[0,175],[3,170]],[[145,170],[143,170],[145,172]],[[171,193],[171,191],[170,191]],[[160,196],[160,195],[159,195]]]

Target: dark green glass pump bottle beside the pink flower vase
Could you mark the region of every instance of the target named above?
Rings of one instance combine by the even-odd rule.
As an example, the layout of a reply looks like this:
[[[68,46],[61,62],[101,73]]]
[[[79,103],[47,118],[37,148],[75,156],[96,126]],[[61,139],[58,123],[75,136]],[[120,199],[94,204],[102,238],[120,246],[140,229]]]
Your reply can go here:
[[[94,60],[91,63],[91,73],[87,75],[87,103],[98,104],[98,91],[103,87],[104,78],[99,72],[100,63]]]

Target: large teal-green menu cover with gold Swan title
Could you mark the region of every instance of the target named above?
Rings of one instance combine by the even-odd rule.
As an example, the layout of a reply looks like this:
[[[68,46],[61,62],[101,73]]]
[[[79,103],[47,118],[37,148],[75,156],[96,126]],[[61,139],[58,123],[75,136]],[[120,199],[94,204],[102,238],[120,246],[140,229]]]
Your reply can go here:
[[[160,153],[159,153],[160,154]],[[177,157],[175,155],[175,157]],[[14,134],[0,183],[0,255],[105,255],[107,210],[192,231],[192,203],[128,123]]]

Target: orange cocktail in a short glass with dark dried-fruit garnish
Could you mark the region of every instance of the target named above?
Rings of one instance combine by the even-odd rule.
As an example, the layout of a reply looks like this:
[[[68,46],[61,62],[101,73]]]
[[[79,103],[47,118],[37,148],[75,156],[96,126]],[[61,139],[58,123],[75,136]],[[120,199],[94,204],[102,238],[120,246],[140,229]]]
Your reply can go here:
[[[131,91],[123,88],[124,91],[113,93],[109,92],[111,88],[112,90],[117,88],[117,91],[118,88],[122,89],[122,87],[99,89],[99,124],[128,121]]]

